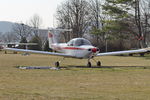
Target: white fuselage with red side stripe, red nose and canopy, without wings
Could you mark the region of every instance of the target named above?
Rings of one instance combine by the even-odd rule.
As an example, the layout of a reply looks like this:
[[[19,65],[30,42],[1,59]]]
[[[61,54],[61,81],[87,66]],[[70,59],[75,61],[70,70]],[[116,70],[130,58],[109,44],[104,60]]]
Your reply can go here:
[[[88,43],[80,43],[80,41],[87,42],[86,39],[76,38],[68,43],[54,43],[51,47],[57,52],[65,53],[79,59],[92,58],[99,53],[99,49],[92,46],[89,41]]]

